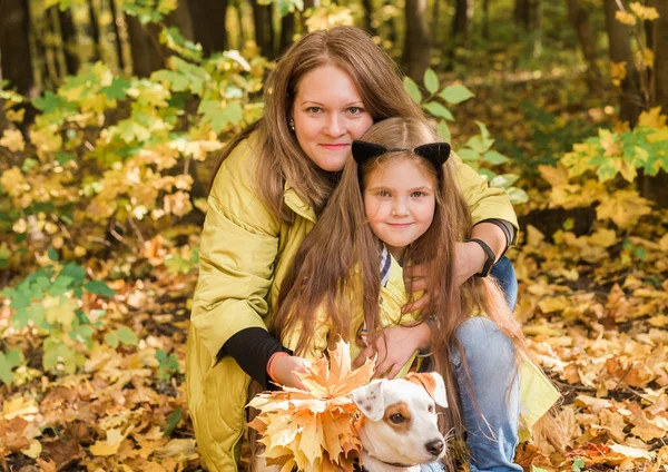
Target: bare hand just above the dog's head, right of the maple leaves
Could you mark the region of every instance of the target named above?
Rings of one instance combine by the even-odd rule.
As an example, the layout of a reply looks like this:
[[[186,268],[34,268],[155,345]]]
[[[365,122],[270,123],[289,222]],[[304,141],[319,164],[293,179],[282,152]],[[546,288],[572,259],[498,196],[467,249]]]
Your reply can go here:
[[[377,354],[375,377],[394,378],[411,360],[415,351],[429,346],[431,331],[426,323],[414,326],[389,326],[376,336],[373,344],[366,346],[353,362],[357,368],[364,361]]]

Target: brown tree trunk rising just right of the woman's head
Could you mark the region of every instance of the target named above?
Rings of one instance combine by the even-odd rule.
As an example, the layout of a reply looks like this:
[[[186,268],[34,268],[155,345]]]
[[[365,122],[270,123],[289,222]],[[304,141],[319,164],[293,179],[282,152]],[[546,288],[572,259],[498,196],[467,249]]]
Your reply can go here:
[[[429,68],[431,58],[431,45],[425,13],[426,0],[406,0],[406,33],[404,37],[403,62],[409,77],[418,83],[422,82],[424,71]]]

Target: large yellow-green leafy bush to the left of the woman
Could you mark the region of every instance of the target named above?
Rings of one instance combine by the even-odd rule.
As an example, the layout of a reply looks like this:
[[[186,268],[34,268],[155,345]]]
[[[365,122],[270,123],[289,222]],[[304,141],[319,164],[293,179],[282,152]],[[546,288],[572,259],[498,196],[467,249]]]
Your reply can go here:
[[[124,4],[163,14],[176,3]],[[194,208],[191,161],[259,118],[264,58],[238,51],[204,58],[173,28],[160,40],[179,55],[168,68],[139,79],[89,65],[32,100],[41,114],[29,140],[20,131],[0,136],[0,147],[16,155],[16,163],[0,163],[0,266],[21,267],[28,254],[49,246],[69,259],[90,257],[104,247],[91,242],[115,224],[131,226],[111,232],[127,244],[131,235],[150,238]],[[0,98],[8,108],[22,100],[6,90]],[[72,224],[76,233],[67,230]]]

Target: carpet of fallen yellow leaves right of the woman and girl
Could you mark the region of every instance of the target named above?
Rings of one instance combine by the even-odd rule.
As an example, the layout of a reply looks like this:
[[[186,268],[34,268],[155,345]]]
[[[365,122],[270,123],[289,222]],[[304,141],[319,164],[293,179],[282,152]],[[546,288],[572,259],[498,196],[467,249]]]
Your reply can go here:
[[[664,471],[668,213],[650,217],[654,224],[617,232],[595,222],[582,236],[561,229],[550,237],[530,226],[514,256],[518,315],[564,394],[557,415],[563,444],[537,437],[520,451],[525,468],[570,471],[582,461],[581,470]]]

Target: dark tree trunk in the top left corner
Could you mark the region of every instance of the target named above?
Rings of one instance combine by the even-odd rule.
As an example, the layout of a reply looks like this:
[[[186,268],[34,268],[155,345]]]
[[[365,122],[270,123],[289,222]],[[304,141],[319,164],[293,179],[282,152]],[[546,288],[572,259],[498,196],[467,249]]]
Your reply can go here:
[[[2,78],[19,94],[29,96],[33,86],[30,59],[30,10],[28,0],[0,0],[0,56]]]

